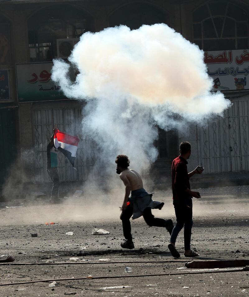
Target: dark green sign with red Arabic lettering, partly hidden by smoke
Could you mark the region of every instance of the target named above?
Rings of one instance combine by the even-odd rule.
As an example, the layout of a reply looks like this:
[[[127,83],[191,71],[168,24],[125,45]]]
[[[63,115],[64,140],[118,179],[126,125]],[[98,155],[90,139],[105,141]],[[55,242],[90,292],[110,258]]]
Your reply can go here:
[[[60,86],[51,80],[53,63],[16,64],[17,94],[19,102],[68,99]]]

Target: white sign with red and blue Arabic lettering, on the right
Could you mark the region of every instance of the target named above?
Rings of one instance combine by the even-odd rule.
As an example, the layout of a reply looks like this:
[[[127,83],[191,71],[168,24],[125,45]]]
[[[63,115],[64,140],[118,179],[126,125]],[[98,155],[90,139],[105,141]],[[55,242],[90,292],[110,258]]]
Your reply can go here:
[[[205,52],[204,62],[214,90],[249,89],[249,49]]]

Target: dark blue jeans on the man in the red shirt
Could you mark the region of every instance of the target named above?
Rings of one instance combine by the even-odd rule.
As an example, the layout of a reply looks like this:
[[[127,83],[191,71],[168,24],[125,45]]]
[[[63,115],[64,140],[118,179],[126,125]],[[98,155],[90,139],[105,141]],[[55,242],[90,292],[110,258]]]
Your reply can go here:
[[[176,238],[184,226],[184,248],[185,250],[189,250],[193,225],[192,199],[173,200],[173,205],[176,213],[176,225],[171,233],[170,242],[176,243]]]

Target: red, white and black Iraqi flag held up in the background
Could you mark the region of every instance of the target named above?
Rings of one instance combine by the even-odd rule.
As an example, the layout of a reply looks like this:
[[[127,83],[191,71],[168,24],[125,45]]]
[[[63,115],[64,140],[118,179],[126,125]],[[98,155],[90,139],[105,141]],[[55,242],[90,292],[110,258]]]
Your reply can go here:
[[[79,138],[60,132],[58,129],[54,132],[54,146],[61,151],[74,167]]]

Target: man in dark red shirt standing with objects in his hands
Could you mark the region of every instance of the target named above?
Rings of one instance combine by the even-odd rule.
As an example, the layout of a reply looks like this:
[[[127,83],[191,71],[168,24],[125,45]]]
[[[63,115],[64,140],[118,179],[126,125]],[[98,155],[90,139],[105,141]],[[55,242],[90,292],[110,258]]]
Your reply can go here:
[[[176,225],[171,233],[168,248],[171,255],[179,258],[180,254],[175,248],[176,238],[184,226],[184,255],[185,257],[198,257],[199,254],[190,249],[192,220],[192,198],[200,198],[199,192],[191,191],[189,179],[194,174],[203,172],[202,166],[197,166],[195,170],[188,173],[187,159],[191,155],[191,145],[189,142],[182,142],[180,145],[180,156],[172,163],[172,192],[173,205],[176,213]]]

